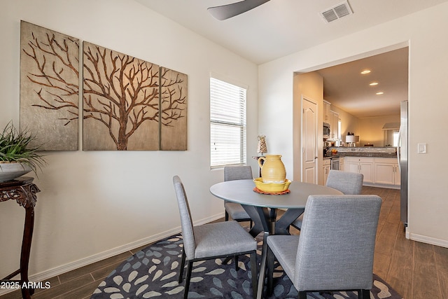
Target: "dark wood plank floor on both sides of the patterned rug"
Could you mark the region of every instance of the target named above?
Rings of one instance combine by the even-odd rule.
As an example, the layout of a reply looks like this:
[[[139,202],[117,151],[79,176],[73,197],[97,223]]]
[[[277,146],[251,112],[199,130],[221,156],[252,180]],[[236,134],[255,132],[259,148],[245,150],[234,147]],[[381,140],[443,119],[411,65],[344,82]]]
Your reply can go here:
[[[405,238],[400,223],[400,191],[363,187],[363,194],[383,199],[375,246],[374,272],[405,299],[448,298],[448,249]],[[223,219],[222,219],[223,220]],[[143,246],[145,247],[145,246]],[[120,263],[141,248],[48,279],[51,288],[36,290],[33,299],[83,299]],[[19,299],[20,291],[0,296]]]

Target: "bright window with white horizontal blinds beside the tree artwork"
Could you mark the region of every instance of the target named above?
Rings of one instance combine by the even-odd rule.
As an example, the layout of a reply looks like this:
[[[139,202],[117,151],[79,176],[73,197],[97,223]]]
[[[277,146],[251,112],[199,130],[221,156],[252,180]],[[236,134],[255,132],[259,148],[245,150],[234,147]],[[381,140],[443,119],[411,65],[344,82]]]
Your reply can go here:
[[[246,164],[246,88],[210,78],[210,167]]]

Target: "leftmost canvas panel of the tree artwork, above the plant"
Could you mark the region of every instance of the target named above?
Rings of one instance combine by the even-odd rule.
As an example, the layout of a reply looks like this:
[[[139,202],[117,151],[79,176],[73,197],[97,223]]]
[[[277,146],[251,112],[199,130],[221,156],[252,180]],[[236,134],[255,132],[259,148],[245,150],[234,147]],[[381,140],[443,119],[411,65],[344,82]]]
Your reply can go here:
[[[79,39],[20,22],[20,128],[42,150],[78,150]]]

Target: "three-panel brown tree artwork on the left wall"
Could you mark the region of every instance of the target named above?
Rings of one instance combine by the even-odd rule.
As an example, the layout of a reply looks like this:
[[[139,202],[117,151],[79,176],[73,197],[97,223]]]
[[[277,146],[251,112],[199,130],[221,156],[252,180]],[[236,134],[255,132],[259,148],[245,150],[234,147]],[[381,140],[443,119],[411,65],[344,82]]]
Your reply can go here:
[[[44,150],[78,150],[81,127],[84,151],[186,151],[186,74],[25,21],[20,47],[20,126]]]

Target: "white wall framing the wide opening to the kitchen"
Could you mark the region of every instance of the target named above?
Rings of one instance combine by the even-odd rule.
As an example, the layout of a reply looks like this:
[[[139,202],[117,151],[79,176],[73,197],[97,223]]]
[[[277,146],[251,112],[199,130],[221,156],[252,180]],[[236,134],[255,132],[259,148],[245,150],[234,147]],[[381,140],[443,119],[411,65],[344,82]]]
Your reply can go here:
[[[448,247],[448,4],[386,22],[259,67],[259,127],[293,173],[293,73],[329,67],[409,45],[409,226],[411,239]],[[328,50],[332,49],[332,50]],[[272,122],[275,125],[272,125]],[[281,130],[279,130],[281,128]],[[428,153],[417,154],[417,144]],[[293,178],[297,179],[297,178]]]

